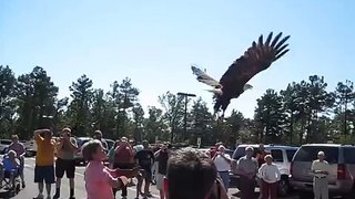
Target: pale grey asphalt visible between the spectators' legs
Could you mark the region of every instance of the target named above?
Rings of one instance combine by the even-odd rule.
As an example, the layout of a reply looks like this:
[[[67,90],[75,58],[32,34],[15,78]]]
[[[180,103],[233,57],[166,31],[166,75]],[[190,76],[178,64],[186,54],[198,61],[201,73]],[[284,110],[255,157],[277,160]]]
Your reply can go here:
[[[84,184],[84,167],[79,166],[77,167],[75,171],[75,198],[77,199],[84,199],[87,197],[85,192],[85,184]],[[31,199],[37,196],[38,188],[37,185],[33,182],[34,179],[34,158],[27,158],[24,163],[24,178],[27,182],[27,187],[22,189],[19,195],[14,196],[14,199]],[[55,186],[52,186],[52,196],[54,195]],[[230,189],[231,193],[237,192],[237,189],[232,188]],[[155,186],[151,186],[151,193],[153,198],[160,198],[159,191],[156,190]],[[64,178],[62,179],[61,186],[61,198],[69,198],[69,181]],[[121,198],[121,192],[118,192],[116,198]],[[129,199],[135,198],[135,187],[129,187]],[[237,199],[237,197],[232,197]],[[284,199],[296,199],[295,197],[287,197]]]

